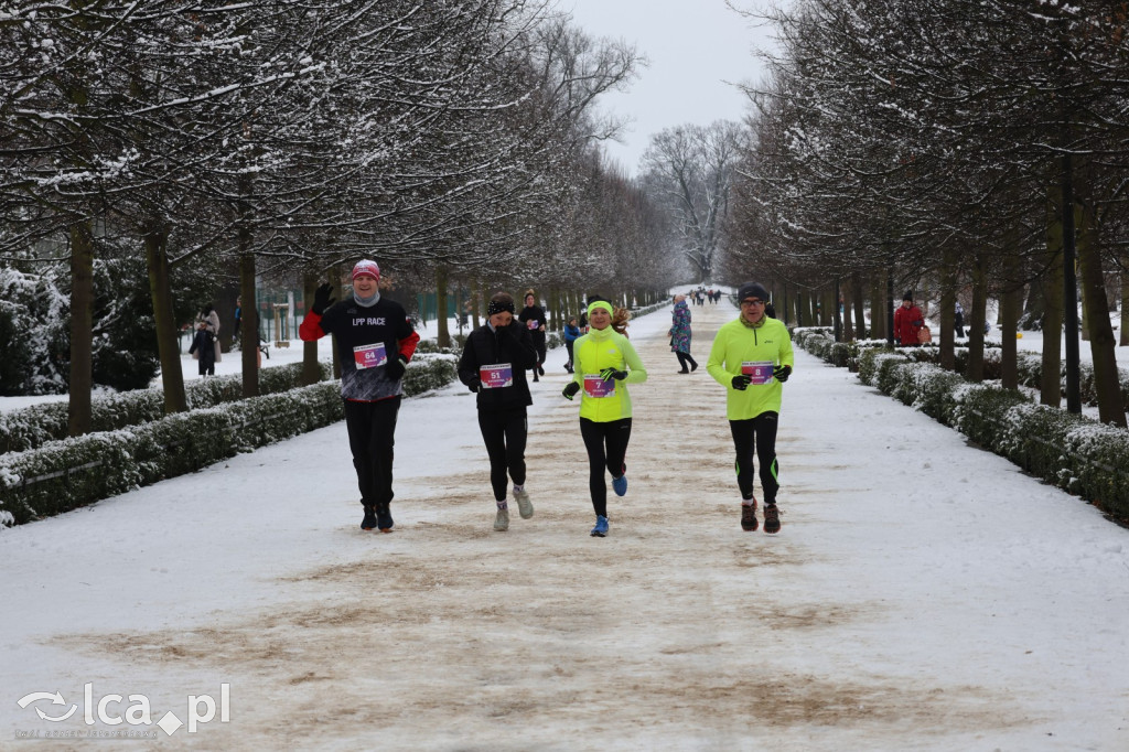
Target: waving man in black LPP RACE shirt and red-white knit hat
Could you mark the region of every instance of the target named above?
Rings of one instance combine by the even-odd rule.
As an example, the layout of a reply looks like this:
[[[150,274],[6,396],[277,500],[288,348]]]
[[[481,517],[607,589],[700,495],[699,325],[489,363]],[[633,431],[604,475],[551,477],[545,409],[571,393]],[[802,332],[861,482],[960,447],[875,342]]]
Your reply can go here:
[[[345,428],[365,507],[360,526],[391,533],[396,416],[404,370],[420,335],[403,306],[380,297],[380,268],[375,261],[357,262],[352,283],[352,296],[340,303],[330,297],[332,285],[318,287],[298,336],[305,342],[336,336]]]

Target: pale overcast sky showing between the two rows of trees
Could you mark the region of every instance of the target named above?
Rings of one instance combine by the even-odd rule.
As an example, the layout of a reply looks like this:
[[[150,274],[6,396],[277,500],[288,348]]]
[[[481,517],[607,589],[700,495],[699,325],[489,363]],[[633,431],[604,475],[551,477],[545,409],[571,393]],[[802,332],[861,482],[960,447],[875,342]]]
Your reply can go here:
[[[739,0],[760,9],[765,0]],[[762,78],[754,49],[771,47],[771,30],[729,10],[725,0],[559,0],[564,12],[593,36],[637,45],[650,65],[627,93],[611,93],[601,110],[633,119],[625,145],[605,142],[607,155],[631,175],[654,133],[715,120],[741,120],[746,97],[725,81]]]

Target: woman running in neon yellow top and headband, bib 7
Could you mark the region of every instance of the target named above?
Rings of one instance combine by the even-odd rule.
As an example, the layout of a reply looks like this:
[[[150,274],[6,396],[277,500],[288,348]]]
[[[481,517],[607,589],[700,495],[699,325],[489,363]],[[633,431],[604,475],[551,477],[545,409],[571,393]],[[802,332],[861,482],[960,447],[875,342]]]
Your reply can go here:
[[[607,535],[607,486],[612,475],[616,496],[628,491],[628,441],[631,438],[631,395],[628,384],[647,381],[647,370],[627,336],[612,329],[612,304],[593,298],[588,304],[590,330],[572,346],[576,370],[562,394],[579,392],[580,436],[588,451],[588,490],[596,513],[592,535]]]

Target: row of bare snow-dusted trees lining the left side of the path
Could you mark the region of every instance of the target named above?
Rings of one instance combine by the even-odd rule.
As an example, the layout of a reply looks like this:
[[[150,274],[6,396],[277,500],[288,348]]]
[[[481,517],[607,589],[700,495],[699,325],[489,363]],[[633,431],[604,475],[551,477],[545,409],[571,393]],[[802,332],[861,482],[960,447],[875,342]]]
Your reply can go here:
[[[242,297],[244,342],[256,278],[308,288],[359,256],[404,279],[665,287],[663,217],[595,146],[619,129],[595,102],[640,62],[524,0],[8,3],[0,259],[67,291],[72,435],[107,260],[143,260],[168,411],[189,277],[220,281],[225,318]],[[243,373],[257,393],[253,348]]]

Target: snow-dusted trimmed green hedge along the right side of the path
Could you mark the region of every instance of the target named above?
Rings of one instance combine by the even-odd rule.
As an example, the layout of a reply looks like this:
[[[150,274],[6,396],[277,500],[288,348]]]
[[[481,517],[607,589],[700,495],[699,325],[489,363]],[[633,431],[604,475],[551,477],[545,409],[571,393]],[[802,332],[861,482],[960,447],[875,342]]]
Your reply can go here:
[[[825,332],[799,330],[795,341],[829,362],[835,357]],[[1129,519],[1129,472],[1123,467],[1129,457],[1129,431],[1033,404],[1023,393],[997,384],[970,384],[957,373],[916,362],[912,353],[922,349],[891,352],[861,343],[859,381],[1110,515]],[[1032,359],[1023,358],[1021,374],[1026,376],[1021,378],[1031,378]],[[1038,368],[1034,373],[1038,385]]]

